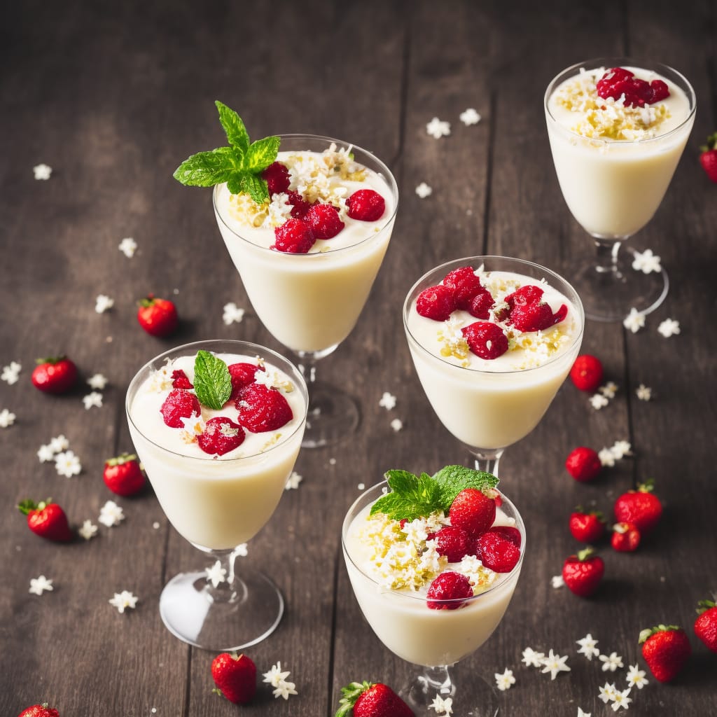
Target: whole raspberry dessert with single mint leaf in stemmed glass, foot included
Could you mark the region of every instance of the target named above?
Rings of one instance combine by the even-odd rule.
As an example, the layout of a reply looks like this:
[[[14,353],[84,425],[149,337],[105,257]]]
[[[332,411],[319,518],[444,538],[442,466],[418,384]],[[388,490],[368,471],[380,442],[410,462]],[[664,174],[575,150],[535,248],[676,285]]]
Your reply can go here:
[[[308,397],[298,369],[247,341],[200,341],[156,356],[132,379],[130,435],[168,520],[212,559],[166,584],[168,629],[207,650],[270,635],[284,601],[259,571],[234,571],[237,547],[267,523],[293,470]],[[212,579],[210,579],[212,578]]]

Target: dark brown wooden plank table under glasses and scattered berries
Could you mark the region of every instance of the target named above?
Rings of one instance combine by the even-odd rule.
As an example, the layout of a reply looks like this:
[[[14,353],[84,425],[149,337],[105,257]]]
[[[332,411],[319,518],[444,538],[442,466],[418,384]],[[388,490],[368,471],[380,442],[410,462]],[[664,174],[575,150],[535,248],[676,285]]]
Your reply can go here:
[[[433,472],[468,462],[419,386],[402,300],[419,275],[452,258],[516,256],[559,273],[571,258],[589,260],[591,242],[556,181],[541,103],[559,70],[608,54],[677,67],[698,96],[668,194],[631,241],[662,257],[670,293],[638,333],[587,323],[582,352],[599,356],[619,386],[607,407],[592,408],[568,382],[541,424],[506,452],[501,487],[526,519],[529,548],[503,622],[460,670],[464,679],[480,673],[491,681],[513,670],[516,684],[500,694],[503,714],[550,706],[559,716],[579,707],[608,715],[599,686],[623,685],[628,665],[646,669],[640,630],[674,623],[688,631],[693,656],[671,685],[650,679],[633,690],[630,714],[716,713],[717,656],[692,630],[698,600],[717,589],[717,186],[698,165],[698,146],[717,128],[713,2],[27,0],[6,4],[3,16],[0,366],[17,361],[22,371],[15,384],[0,381],[0,410],[16,414],[0,430],[0,714],[47,700],[62,717],[315,717],[333,715],[351,680],[400,687],[412,667],[361,617],[341,558],[341,521],[359,483],[378,482],[388,468]],[[163,584],[204,564],[150,490],[117,499],[120,526],[100,525],[92,540],[67,545],[34,536],[15,509],[22,498],[52,496],[75,527],[87,518],[98,524],[100,507],[115,497],[103,484],[103,462],[132,450],[125,390],[157,353],[203,338],[282,350],[252,312],[209,190],[171,176],[190,153],[222,144],[215,99],[236,108],[255,137],[308,132],[369,148],[394,171],[401,196],[364,313],[320,364],[327,381],[359,397],[359,430],[300,453],[303,482],[285,492],[243,559],[265,566],[288,605],[278,630],[247,652],[262,672],[280,660],[298,690],[275,700],[261,685],[247,708],[212,694],[213,654],[163,627]],[[466,126],[459,115],[471,107],[482,119]],[[450,122],[450,136],[427,134],[435,116]],[[39,163],[52,167],[49,181],[34,179]],[[422,181],[433,189],[426,199],[414,191]],[[123,237],[138,244],[133,258],[118,251]],[[148,292],[176,301],[175,336],[160,340],[139,328],[136,300]],[[95,312],[100,294],[114,300],[106,313]],[[230,301],[247,312],[226,326]],[[679,336],[660,336],[665,318],[679,320]],[[82,379],[69,395],[49,397],[30,374],[34,359],[57,351],[75,359]],[[95,373],[109,379],[103,405],[85,409],[85,379]],[[637,399],[639,384],[652,388],[650,402]],[[391,411],[379,406],[384,391],[397,397]],[[404,424],[399,432],[394,418]],[[70,479],[37,457],[60,434],[82,463]],[[566,473],[572,448],[617,440],[630,441],[634,455],[594,483]],[[594,598],[551,587],[577,548],[567,528],[574,505],[610,513],[619,493],[646,478],[665,503],[655,533],[635,554],[602,546],[606,577]],[[42,597],[28,592],[40,574],[54,584]],[[139,600],[119,614],[108,600],[122,590]],[[602,652],[622,655],[625,668],[605,673],[578,655],[576,640],[587,633]],[[526,667],[525,647],[568,655],[571,672],[552,681]]]

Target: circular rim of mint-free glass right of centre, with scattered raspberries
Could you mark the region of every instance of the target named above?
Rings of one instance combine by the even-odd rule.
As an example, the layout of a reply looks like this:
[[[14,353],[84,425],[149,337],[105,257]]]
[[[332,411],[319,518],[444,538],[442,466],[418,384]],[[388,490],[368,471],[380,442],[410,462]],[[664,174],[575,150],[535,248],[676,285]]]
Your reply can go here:
[[[538,272],[546,272],[551,277],[554,277],[555,279],[558,279],[560,282],[563,282],[564,285],[566,285],[569,290],[572,293],[572,298],[570,296],[566,296],[566,298],[571,301],[571,303],[574,304],[575,308],[578,310],[578,317],[580,319],[580,331],[577,333],[573,341],[571,342],[570,346],[566,348],[565,351],[562,353],[559,353],[557,356],[554,356],[549,361],[546,361],[544,364],[539,364],[538,366],[530,366],[527,369],[513,369],[512,371],[490,371],[490,369],[471,369],[470,366],[459,366],[458,364],[452,364],[450,361],[447,361],[442,356],[436,356],[435,353],[432,353],[429,351],[423,344],[413,335],[411,329],[408,325],[408,315],[409,311],[411,309],[411,305],[414,300],[414,293],[416,293],[416,290],[426,278],[436,272],[436,274],[442,272],[445,270],[446,267],[449,267],[451,265],[460,265],[463,262],[473,262],[476,263],[477,260],[480,260],[481,262],[483,260],[501,260],[501,261],[509,261],[509,262],[518,262],[521,265],[526,265],[534,270],[538,270]],[[496,270],[486,270],[488,272],[490,271],[500,271],[500,269]],[[447,272],[445,272],[447,273]],[[532,277],[531,277],[532,278]],[[559,287],[553,286],[554,289],[559,290]],[[562,290],[560,293],[564,293]],[[477,319],[479,320],[479,319]],[[404,323],[404,330],[406,331],[407,336],[409,337],[409,340],[412,341],[415,346],[417,346],[422,353],[424,353],[426,356],[429,357],[429,359],[434,359],[436,361],[440,361],[442,364],[445,364],[446,366],[451,366],[453,369],[460,369],[460,371],[469,371],[470,373],[476,374],[490,374],[491,376],[516,376],[518,374],[529,374],[531,371],[537,371],[538,369],[543,369],[546,366],[550,366],[551,364],[554,364],[555,361],[559,361],[562,359],[567,353],[570,353],[572,348],[575,346],[576,343],[581,343],[582,336],[585,332],[585,309],[582,305],[582,301],[580,299],[579,294],[576,292],[575,288],[571,283],[561,277],[561,275],[557,274],[553,270],[544,267],[541,264],[536,264],[536,262],[531,262],[527,259],[518,259],[517,257],[501,257],[498,255],[485,255],[485,256],[475,256],[475,257],[464,257],[462,259],[452,259],[448,262],[444,262],[443,264],[438,265],[437,267],[432,268],[431,270],[427,271],[422,275],[422,277],[417,280],[417,282],[414,282],[414,285],[409,289],[409,292],[406,295],[406,298],[404,300],[404,307],[403,307],[403,323]],[[437,322],[438,323],[438,322]],[[442,322],[441,322],[442,323]]]

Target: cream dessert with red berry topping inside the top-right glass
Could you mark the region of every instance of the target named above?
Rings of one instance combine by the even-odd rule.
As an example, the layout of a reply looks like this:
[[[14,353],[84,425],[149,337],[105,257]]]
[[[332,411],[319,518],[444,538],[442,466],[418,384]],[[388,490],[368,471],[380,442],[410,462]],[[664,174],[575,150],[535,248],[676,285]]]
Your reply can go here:
[[[571,69],[551,83],[545,102],[563,196],[594,237],[629,237],[665,195],[693,125],[694,97],[640,67]]]

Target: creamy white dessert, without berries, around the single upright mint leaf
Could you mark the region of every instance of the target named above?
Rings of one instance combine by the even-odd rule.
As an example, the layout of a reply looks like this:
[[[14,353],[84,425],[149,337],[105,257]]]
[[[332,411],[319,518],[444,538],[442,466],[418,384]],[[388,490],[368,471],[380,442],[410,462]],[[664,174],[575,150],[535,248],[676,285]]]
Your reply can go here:
[[[265,370],[257,371],[257,380],[281,392],[293,414],[290,421],[267,432],[244,430],[239,447],[224,455],[207,454],[198,437],[210,419],[238,422],[233,400],[219,410],[200,406],[201,413],[184,419],[179,428],[168,426],[161,413],[173,391],[174,371],[184,371],[194,384],[191,355],[168,360],[146,376],[128,402],[128,423],[137,455],[169,521],[196,546],[218,550],[249,541],[274,512],[301,445],[306,398],[288,374],[257,361],[257,356],[217,356],[227,365],[260,364]]]

